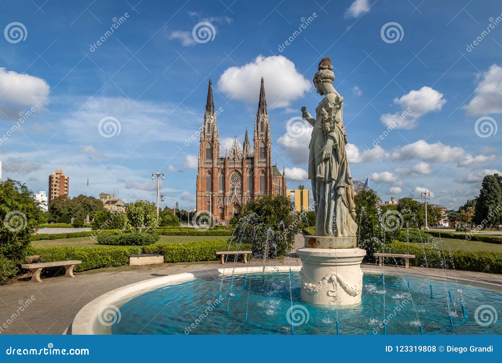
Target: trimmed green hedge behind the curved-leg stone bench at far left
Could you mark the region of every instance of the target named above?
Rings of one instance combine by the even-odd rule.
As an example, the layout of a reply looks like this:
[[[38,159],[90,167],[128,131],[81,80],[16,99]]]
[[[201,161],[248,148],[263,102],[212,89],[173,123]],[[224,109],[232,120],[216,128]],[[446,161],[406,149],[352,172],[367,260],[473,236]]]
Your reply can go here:
[[[140,247],[32,247],[30,254],[40,255],[40,262],[81,260],[74,271],[85,271],[129,263],[129,256],[141,253]]]

